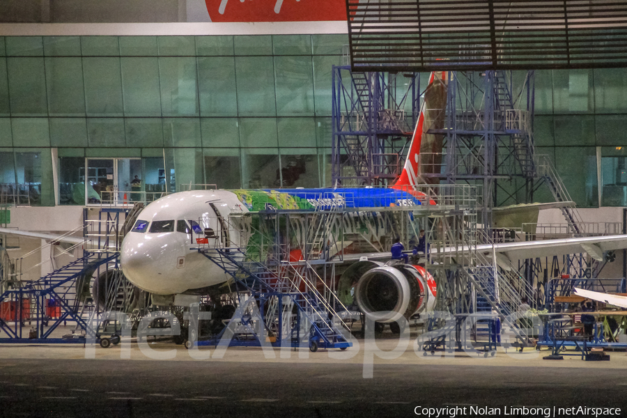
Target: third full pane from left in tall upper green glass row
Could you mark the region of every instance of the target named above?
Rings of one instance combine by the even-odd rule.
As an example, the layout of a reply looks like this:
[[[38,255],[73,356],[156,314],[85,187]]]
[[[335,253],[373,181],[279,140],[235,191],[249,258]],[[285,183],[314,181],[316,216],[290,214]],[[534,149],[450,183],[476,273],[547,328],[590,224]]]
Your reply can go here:
[[[119,58],[84,58],[88,116],[122,116],[122,77]]]

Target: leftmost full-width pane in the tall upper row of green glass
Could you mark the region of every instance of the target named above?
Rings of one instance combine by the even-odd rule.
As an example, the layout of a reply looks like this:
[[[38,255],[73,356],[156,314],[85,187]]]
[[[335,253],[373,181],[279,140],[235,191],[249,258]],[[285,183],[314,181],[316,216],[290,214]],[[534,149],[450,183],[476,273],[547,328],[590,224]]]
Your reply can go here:
[[[7,64],[11,114],[47,115],[43,59],[8,58]]]

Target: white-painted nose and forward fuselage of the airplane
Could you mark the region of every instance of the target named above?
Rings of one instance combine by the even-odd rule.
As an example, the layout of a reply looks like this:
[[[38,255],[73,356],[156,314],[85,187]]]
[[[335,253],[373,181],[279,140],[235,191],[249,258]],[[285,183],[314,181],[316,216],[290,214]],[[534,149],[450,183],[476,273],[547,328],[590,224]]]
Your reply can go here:
[[[121,265],[127,279],[145,291],[160,295],[184,293],[226,281],[229,277],[224,270],[193,249],[197,247],[195,238],[202,235],[176,231],[179,220],[194,220],[203,229],[218,231],[217,214],[209,203],[213,203],[224,219],[229,219],[233,208],[248,212],[238,197],[227,190],[180,192],[146,206],[138,217],[149,222],[146,232],[129,232],[122,242]],[[173,221],[174,231],[151,233],[153,221]],[[232,232],[231,240],[238,240],[239,233]],[[235,246],[239,244],[233,242]]]

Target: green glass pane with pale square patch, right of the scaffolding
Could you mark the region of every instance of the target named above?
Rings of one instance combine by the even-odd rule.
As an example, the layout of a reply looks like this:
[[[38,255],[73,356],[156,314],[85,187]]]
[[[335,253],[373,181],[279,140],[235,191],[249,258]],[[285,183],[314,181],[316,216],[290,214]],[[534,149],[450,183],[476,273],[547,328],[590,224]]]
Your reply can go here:
[[[592,70],[553,70],[553,111],[594,111]]]

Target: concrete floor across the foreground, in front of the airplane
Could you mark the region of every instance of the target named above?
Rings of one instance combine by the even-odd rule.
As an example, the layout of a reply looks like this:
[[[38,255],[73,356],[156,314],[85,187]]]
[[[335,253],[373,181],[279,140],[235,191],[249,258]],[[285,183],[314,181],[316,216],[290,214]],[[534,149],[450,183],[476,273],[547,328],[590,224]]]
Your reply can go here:
[[[485,415],[472,405],[501,408],[497,416],[516,406],[549,408],[542,414],[552,417],[566,416],[553,407],[579,406],[622,408],[602,416],[627,416],[624,352],[610,353],[609,362],[543,360],[548,351],[533,349],[424,357],[413,340],[397,351],[392,338],[357,343],[317,353],[220,353],[169,341],[108,349],[7,344],[0,346],[0,417],[403,417],[417,416],[417,406],[451,405],[466,408],[458,416]]]

